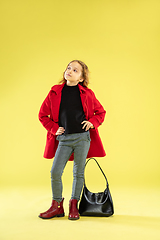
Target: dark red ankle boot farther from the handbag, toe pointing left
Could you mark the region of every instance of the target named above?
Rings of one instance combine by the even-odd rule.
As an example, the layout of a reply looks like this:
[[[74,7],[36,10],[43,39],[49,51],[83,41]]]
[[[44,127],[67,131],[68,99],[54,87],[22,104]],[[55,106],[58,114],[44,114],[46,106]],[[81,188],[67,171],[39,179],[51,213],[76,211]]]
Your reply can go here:
[[[63,209],[63,200],[60,203],[53,200],[51,207],[44,213],[40,213],[39,217],[43,219],[50,219],[54,217],[64,217],[64,209]]]

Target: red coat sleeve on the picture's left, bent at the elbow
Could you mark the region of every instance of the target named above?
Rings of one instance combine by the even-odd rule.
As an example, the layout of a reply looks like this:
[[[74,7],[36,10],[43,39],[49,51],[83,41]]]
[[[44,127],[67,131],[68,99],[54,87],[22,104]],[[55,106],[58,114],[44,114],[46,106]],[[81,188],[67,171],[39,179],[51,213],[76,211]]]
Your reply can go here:
[[[46,99],[42,103],[38,117],[45,129],[55,135],[59,125],[52,120],[50,94],[51,93],[49,92]]]

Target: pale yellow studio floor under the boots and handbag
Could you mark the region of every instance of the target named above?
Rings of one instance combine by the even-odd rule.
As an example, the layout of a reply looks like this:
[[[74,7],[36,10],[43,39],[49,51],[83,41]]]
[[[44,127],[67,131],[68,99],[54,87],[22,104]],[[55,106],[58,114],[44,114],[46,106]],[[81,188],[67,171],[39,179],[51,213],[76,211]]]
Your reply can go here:
[[[122,239],[160,240],[160,191],[112,188],[115,214],[109,218],[68,220],[70,189],[64,190],[66,216],[42,220],[51,203],[49,188],[0,191],[0,240]]]

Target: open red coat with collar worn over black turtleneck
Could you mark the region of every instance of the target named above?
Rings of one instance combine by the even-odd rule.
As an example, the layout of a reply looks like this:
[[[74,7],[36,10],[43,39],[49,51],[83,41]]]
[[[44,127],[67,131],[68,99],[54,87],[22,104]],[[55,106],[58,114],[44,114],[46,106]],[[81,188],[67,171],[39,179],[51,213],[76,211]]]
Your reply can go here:
[[[61,85],[54,85],[51,88],[39,111],[39,120],[42,125],[48,130],[46,147],[44,151],[44,158],[48,159],[51,159],[55,156],[55,152],[58,146],[58,141],[56,140],[57,136],[55,133],[59,128],[59,108],[64,84],[65,83]],[[78,84],[78,87],[80,90],[80,97],[86,119],[94,125],[94,128],[89,130],[91,144],[87,158],[104,157],[106,153],[103,148],[97,128],[104,121],[106,111],[100,102],[96,99],[91,89],[83,87],[80,84]],[[72,154],[69,160],[73,160],[73,158],[74,156]]]

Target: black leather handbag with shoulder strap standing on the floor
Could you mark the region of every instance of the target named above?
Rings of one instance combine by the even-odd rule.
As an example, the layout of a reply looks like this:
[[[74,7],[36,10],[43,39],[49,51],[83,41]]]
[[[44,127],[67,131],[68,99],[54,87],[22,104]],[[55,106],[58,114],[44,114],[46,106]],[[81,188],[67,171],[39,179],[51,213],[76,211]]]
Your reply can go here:
[[[107,186],[104,192],[92,193],[87,189],[84,180],[83,192],[79,203],[79,214],[81,216],[109,217],[114,214],[114,207],[109,190],[109,184],[102,168],[95,158],[88,159],[85,167],[91,159],[94,159],[99,166],[102,174],[106,179]]]

